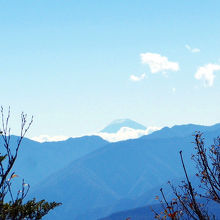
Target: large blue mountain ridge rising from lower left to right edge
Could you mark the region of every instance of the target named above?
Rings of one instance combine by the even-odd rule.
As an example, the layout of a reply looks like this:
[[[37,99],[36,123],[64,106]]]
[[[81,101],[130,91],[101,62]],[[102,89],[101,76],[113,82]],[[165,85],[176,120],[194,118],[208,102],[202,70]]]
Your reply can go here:
[[[220,124],[174,126],[106,144],[48,176],[31,196],[63,203],[45,219],[95,220],[152,204],[162,184],[184,176],[180,149],[189,174],[193,172],[192,133],[198,130],[209,144],[220,134]]]

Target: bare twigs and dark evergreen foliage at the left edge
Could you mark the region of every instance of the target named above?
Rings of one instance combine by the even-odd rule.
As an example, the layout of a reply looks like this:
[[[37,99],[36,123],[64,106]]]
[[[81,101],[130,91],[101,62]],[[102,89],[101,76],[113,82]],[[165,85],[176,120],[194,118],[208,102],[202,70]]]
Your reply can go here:
[[[45,200],[36,201],[35,199],[25,201],[30,186],[22,181],[20,190],[15,193],[13,180],[18,175],[13,172],[13,166],[17,159],[21,143],[29,130],[33,117],[27,121],[27,115],[21,114],[21,129],[16,145],[11,144],[11,130],[9,128],[10,109],[7,117],[4,117],[4,110],[1,107],[0,127],[0,219],[41,219],[50,210],[59,206],[61,203],[47,202]]]

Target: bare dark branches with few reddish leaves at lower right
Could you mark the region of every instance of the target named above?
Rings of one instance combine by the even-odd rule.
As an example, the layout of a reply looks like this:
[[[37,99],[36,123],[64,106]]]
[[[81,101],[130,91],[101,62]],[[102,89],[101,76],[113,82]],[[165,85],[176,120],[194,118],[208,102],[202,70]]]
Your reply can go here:
[[[209,203],[217,203],[220,209],[220,137],[214,140],[211,147],[205,147],[201,133],[195,134],[195,150],[192,155],[197,169],[195,174],[200,184],[194,188],[187,173],[182,151],[180,159],[185,173],[185,180],[178,187],[169,182],[175,197],[168,202],[163,189],[160,189],[162,198],[158,199],[162,206],[162,212],[157,213],[156,219],[216,219],[215,213],[208,208]]]

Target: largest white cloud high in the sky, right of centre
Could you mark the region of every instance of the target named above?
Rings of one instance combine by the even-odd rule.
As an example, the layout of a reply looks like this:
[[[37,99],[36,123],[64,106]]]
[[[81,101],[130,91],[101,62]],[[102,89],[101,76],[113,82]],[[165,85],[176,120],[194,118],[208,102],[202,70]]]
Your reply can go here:
[[[178,71],[179,64],[177,62],[171,62],[167,57],[161,56],[157,53],[141,53],[141,62],[148,64],[151,73],[163,72],[166,70]]]

